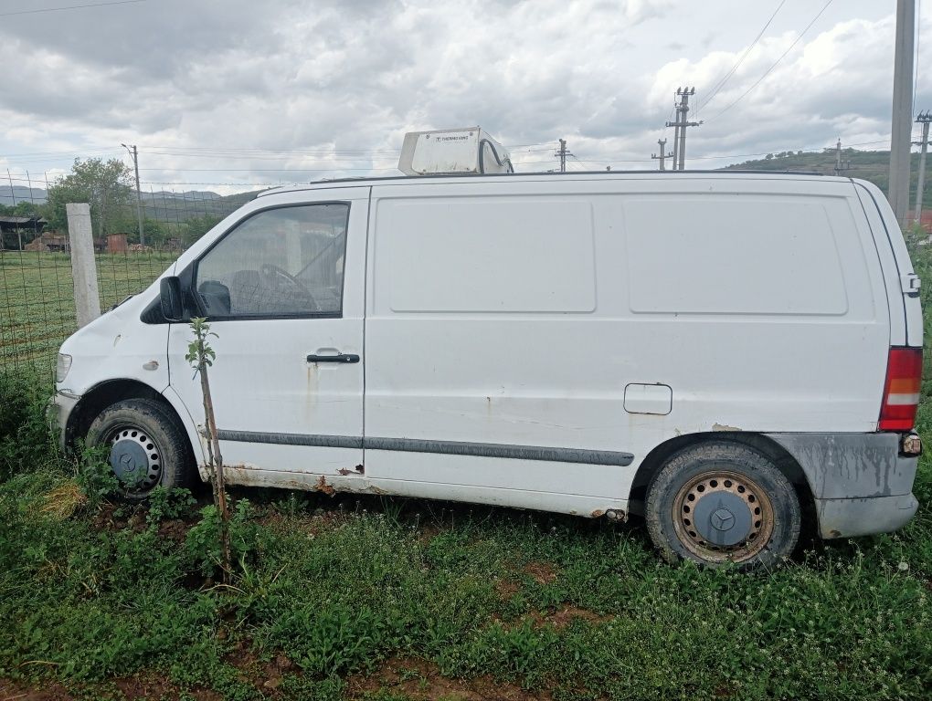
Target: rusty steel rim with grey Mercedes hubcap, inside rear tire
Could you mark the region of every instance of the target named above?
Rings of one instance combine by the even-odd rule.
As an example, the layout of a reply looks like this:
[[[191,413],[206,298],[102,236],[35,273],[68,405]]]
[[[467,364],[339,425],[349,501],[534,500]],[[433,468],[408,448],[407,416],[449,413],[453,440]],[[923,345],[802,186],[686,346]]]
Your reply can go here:
[[[690,479],[673,499],[672,517],[679,542],[692,555],[711,562],[752,559],[774,534],[770,496],[755,480],[729,470]]]

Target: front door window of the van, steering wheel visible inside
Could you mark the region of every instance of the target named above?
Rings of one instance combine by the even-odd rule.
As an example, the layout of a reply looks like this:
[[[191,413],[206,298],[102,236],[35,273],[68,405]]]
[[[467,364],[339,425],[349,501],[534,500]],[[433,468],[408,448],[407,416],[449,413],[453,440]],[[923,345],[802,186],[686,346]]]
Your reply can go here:
[[[340,317],[349,205],[260,211],[200,260],[208,317]]]

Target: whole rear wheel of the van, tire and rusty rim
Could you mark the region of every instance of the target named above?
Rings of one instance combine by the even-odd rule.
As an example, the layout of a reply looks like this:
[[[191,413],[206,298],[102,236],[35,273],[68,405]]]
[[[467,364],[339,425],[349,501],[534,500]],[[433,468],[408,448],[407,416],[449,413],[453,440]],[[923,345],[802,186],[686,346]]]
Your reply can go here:
[[[725,441],[671,457],[651,481],[645,517],[668,562],[733,562],[743,569],[787,559],[802,524],[787,477],[760,452]]]

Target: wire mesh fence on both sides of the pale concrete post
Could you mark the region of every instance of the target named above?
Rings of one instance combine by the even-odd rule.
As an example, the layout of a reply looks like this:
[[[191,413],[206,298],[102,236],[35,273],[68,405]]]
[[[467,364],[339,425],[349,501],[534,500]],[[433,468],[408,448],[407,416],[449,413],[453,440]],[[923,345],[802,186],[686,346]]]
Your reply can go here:
[[[7,182],[3,182],[7,181]],[[71,246],[61,212],[29,179],[0,181],[0,371],[52,367],[77,329]],[[3,187],[2,185],[7,185]],[[143,186],[91,200],[101,309],[148,287],[200,236],[255,193],[221,196]],[[139,223],[143,222],[142,236]]]

